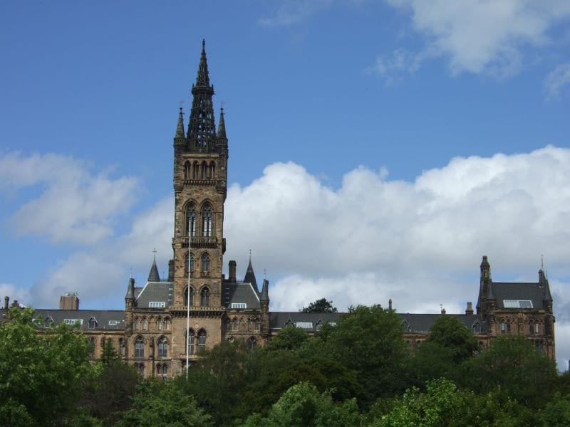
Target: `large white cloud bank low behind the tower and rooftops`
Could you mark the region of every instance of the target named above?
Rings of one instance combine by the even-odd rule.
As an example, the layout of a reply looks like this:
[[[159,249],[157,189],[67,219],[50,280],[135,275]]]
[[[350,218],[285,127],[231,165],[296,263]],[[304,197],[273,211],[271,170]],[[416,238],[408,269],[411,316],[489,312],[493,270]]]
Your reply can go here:
[[[28,169],[16,166],[33,163],[33,156],[8,154],[0,164],[6,159],[14,162],[14,171],[21,170],[11,184],[13,191],[48,182],[31,199],[61,194],[58,204],[66,221],[78,233],[89,229],[82,218],[73,218],[76,187],[68,191],[65,180],[26,178]],[[44,168],[51,162],[63,167],[62,157],[41,159]],[[78,188],[95,188],[100,176],[83,176]],[[136,182],[127,177],[113,182],[135,185],[130,180]],[[101,188],[100,200],[113,200],[117,189]],[[105,191],[111,194],[103,195]],[[24,200],[23,206],[29,203]],[[8,295],[29,295],[28,302],[36,307],[54,307],[58,295],[75,291],[83,307],[120,308],[128,270],[133,268],[138,283],[145,283],[152,248],[158,250],[161,274],[172,256],[173,200],[167,197],[149,206],[123,231],[111,228],[122,208],[94,216],[93,221],[111,224],[104,237],[83,241],[81,250],[54,260],[51,270],[38,272],[30,290],[6,280],[1,288]],[[338,189],[299,164],[276,163],[251,184],[229,187],[224,263],[237,260],[238,274],[244,275],[251,248],[258,280],[266,270],[271,282],[271,310],[299,310],[327,297],[340,310],[355,304],[385,306],[391,298],[400,312],[438,312],[440,305],[447,312],[462,312],[467,301],[476,300],[482,255],[489,255],[493,278],[504,281],[537,280],[544,255],[562,363],[570,355],[570,317],[564,314],[570,306],[568,223],[570,149],[548,146],[523,154],[457,157],[414,181],[388,179],[385,170],[358,167],[343,177]],[[44,236],[46,231],[28,233]],[[58,228],[48,232],[54,245],[62,241],[57,233]],[[74,241],[74,236],[63,228],[64,238]]]

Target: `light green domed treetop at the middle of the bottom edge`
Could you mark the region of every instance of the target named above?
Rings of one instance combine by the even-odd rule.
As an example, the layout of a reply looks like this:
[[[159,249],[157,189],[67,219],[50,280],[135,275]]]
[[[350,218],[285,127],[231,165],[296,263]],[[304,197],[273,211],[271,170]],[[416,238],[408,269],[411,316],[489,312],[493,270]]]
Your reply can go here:
[[[287,390],[266,418],[259,414],[250,416],[243,426],[356,427],[362,419],[355,400],[335,404],[330,394],[321,394],[315,386],[303,382]]]

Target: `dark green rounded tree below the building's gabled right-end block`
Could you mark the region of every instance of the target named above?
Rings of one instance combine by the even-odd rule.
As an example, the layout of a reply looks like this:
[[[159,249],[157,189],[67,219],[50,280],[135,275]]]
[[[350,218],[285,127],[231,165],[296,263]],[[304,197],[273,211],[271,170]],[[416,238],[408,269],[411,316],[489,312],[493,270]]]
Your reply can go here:
[[[554,393],[556,365],[521,336],[497,337],[465,362],[464,383],[477,393],[500,387],[512,399],[540,408]]]

